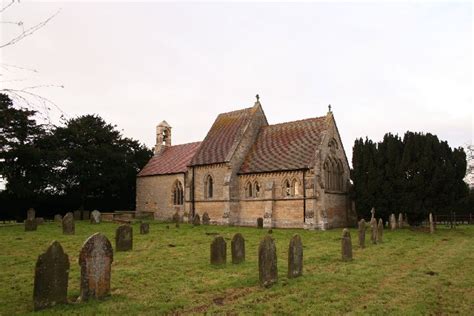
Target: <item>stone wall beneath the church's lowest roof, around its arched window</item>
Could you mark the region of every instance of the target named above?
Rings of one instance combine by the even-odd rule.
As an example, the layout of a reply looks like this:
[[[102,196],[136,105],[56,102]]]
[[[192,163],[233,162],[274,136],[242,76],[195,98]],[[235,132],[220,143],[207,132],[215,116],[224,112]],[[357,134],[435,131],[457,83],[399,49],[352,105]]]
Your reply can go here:
[[[173,205],[173,186],[175,181],[184,186],[184,174],[146,176],[137,178],[136,211],[153,212],[157,220],[170,220],[176,211],[180,214],[184,206]]]

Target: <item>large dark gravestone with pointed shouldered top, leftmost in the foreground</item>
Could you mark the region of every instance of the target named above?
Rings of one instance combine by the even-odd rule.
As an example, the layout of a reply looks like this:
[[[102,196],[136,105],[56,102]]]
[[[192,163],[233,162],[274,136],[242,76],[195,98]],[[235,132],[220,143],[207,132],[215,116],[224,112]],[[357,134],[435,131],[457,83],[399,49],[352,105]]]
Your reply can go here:
[[[67,303],[69,257],[57,241],[39,255],[33,287],[34,310]]]

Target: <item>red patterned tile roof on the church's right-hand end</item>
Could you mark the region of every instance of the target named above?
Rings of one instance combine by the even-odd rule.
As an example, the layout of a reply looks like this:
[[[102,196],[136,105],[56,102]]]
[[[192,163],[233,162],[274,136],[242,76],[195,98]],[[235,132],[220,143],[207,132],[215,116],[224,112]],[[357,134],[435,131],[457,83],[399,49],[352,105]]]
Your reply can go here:
[[[326,128],[326,116],[263,127],[240,173],[310,167]]]

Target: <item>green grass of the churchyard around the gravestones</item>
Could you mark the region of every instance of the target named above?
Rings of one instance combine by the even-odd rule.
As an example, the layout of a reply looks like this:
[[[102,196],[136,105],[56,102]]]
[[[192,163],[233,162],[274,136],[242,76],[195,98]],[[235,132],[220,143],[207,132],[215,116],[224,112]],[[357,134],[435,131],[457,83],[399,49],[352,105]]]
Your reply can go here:
[[[52,240],[69,255],[71,304],[38,315],[474,313],[474,226],[439,227],[435,235],[385,230],[384,243],[367,243],[366,249],[356,246],[352,229],[354,260],[348,263],[340,259],[341,229],[274,229],[279,281],[263,289],[258,285],[257,248],[266,230],[166,225],[151,223],[150,234],[139,235],[134,224],[133,251],[114,253],[111,296],[81,304],[74,303],[81,246],[98,231],[114,245],[117,224],[76,222],[74,236],[62,235],[55,223],[36,232],[24,232],[21,225],[0,227],[0,314],[32,313],[36,259]],[[213,236],[206,232],[226,239],[226,266],[209,264]],[[246,239],[246,262],[241,265],[230,263],[230,239],[236,232]],[[295,233],[303,241],[303,276],[289,280],[288,243]]]

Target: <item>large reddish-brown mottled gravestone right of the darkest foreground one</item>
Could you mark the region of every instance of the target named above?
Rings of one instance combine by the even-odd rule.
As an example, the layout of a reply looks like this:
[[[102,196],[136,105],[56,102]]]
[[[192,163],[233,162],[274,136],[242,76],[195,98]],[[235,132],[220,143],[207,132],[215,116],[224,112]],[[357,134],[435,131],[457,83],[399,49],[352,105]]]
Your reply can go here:
[[[89,237],[79,254],[81,295],[79,301],[103,298],[110,293],[111,265],[114,253],[110,241],[101,233]]]

